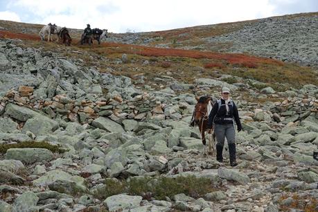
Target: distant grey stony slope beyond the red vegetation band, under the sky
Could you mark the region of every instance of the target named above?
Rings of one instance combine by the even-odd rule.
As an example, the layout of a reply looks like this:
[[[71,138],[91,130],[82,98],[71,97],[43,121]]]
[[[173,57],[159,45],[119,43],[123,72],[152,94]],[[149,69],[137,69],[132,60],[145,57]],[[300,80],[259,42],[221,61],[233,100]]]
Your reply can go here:
[[[35,34],[43,25],[0,21],[0,30]],[[111,29],[109,30],[111,31]],[[80,38],[82,30],[70,29]],[[146,33],[110,33],[109,42],[247,53],[318,67],[318,12]]]

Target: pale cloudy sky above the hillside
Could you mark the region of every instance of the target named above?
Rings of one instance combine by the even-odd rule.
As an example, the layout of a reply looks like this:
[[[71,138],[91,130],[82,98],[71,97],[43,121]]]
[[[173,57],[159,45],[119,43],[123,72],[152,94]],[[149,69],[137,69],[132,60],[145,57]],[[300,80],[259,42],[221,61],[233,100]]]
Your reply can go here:
[[[0,19],[69,28],[107,28],[112,33],[317,12],[317,0],[0,0]]]

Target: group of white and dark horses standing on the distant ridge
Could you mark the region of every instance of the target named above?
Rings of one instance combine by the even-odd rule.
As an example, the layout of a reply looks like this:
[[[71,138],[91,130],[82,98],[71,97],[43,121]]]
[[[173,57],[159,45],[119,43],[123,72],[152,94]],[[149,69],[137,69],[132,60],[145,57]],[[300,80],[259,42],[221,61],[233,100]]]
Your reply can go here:
[[[92,35],[85,35],[82,34],[81,38],[81,44],[93,44],[93,40],[96,39],[98,41],[98,44],[100,44],[100,41],[103,38],[108,37],[107,29],[100,30],[99,28],[92,29]],[[56,42],[58,42],[60,39],[62,40],[62,44],[65,44],[65,46],[71,46],[71,36],[69,35],[69,30],[66,27],[57,26],[55,24],[49,23],[48,25],[44,26],[39,31],[39,37],[41,37],[41,40],[45,40],[45,36],[48,35],[48,42],[53,42],[52,35],[57,35],[58,39],[56,39]]]

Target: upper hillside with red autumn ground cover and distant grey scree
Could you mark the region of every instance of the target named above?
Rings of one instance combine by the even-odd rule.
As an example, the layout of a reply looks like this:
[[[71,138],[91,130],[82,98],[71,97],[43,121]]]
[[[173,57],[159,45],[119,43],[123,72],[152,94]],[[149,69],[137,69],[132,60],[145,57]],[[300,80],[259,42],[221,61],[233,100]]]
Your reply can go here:
[[[70,28],[72,45],[65,47],[40,42],[43,25],[0,21],[0,39],[22,39],[23,47],[80,58],[102,72],[149,80],[153,87],[161,87],[155,79],[166,73],[186,83],[225,75],[227,82],[285,91],[318,85],[318,42],[313,35],[317,26],[317,13],[308,13],[161,32],[110,33],[106,42],[91,47],[79,44],[81,29]],[[123,54],[127,62],[122,62]]]

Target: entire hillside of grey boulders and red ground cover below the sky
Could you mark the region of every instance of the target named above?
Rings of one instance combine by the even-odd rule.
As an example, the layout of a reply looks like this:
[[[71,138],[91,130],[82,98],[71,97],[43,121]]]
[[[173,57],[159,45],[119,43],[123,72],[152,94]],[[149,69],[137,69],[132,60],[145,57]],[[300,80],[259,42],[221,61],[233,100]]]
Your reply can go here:
[[[0,211],[317,211],[317,12],[102,44],[0,21]],[[56,35],[54,35],[56,39]],[[238,166],[195,96],[231,89]]]

